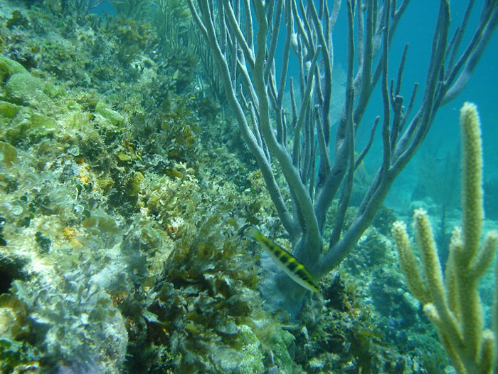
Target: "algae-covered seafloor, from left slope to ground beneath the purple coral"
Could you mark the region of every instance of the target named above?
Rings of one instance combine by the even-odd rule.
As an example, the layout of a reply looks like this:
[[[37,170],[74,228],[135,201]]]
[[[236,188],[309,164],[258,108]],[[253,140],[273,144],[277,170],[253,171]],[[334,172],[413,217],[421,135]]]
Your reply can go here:
[[[240,228],[282,229],[181,30],[0,0],[0,372],[449,372],[389,209],[300,319],[265,310]]]

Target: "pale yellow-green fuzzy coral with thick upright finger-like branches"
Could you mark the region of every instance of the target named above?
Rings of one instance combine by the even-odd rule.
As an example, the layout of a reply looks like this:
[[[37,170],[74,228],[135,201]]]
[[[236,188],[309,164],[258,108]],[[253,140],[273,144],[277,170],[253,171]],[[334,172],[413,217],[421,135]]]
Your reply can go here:
[[[410,246],[406,224],[395,222],[393,236],[410,291],[423,303],[423,310],[438,330],[440,341],[458,373],[491,373],[496,331],[484,329],[478,281],[492,263],[498,233],[482,234],[482,149],[477,108],[465,103],[460,110],[462,131],[462,228],[455,228],[445,277],[427,213],[413,214],[415,240],[422,260],[421,272]],[[498,266],[495,277],[498,276]],[[494,320],[497,320],[495,291]],[[495,323],[496,325],[496,323]],[[496,326],[495,326],[496,330]],[[495,368],[496,370],[496,368]]]

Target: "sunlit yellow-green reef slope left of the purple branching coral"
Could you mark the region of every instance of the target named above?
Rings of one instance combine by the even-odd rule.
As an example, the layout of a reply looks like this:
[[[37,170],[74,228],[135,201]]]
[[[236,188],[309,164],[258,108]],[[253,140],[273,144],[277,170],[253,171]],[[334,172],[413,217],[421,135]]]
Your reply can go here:
[[[263,310],[238,233],[260,204],[203,165],[238,162],[202,150],[216,124],[198,120],[189,74],[147,55],[146,25],[12,12],[27,21],[1,23],[2,372],[291,372],[294,338]],[[16,33],[43,45],[30,64]]]

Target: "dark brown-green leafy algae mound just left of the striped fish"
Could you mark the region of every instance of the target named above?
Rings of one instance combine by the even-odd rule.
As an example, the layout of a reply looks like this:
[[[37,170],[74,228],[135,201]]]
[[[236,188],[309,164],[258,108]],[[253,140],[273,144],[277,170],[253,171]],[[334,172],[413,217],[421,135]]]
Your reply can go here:
[[[238,224],[222,212],[203,221],[194,236],[176,233],[154,285],[152,342],[169,347],[174,372],[263,373],[269,354],[292,372],[287,347],[294,337],[261,306],[258,269]]]

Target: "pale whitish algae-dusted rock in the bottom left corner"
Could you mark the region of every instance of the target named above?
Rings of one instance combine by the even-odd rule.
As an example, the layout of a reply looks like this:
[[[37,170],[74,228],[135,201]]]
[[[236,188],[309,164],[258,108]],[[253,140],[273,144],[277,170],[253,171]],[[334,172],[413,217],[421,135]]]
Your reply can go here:
[[[79,370],[69,373],[119,373],[128,343],[124,318],[84,268],[66,273],[62,284],[14,281],[12,291],[26,304],[29,331],[49,365]]]

